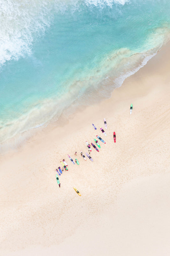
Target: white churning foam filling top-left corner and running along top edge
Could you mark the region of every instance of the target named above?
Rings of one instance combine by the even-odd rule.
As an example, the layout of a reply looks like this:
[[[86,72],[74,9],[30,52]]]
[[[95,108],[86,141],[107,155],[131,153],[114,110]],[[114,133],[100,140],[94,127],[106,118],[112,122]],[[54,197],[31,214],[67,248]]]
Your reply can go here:
[[[129,0],[1,0],[0,1],[0,66],[32,52],[37,36],[50,26],[54,12],[72,12],[81,4],[89,6],[124,5]]]

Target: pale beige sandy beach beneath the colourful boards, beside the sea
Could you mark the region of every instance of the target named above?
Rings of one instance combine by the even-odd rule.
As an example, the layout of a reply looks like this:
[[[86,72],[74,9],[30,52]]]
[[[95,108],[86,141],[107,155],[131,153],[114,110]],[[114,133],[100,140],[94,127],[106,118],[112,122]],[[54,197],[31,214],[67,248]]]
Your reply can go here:
[[[169,69],[167,44],[110,99],[0,157],[0,255],[170,254]],[[80,150],[96,135],[106,144],[85,161]],[[67,156],[75,151],[79,165]]]

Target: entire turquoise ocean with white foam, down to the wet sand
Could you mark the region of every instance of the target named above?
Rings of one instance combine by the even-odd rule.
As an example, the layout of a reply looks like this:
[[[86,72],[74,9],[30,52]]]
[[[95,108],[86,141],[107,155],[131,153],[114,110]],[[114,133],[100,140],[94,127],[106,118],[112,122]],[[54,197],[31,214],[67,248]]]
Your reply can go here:
[[[1,0],[1,150],[109,97],[169,40],[169,13],[169,0]]]

